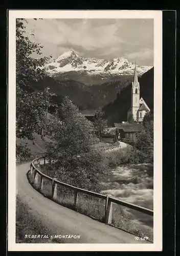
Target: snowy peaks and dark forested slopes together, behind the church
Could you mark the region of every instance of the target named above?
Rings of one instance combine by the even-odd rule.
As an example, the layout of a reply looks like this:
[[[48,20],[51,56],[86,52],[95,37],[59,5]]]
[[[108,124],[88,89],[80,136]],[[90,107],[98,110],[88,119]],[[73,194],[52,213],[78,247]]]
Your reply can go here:
[[[116,58],[116,61],[114,60],[114,64],[116,62],[114,66],[112,66],[113,60],[109,62],[90,59],[88,62],[91,65],[89,64],[89,70],[87,71],[81,70],[82,63],[79,64],[80,66],[77,64],[77,67],[74,67],[75,62],[80,57],[77,57],[71,51],[68,54],[59,56],[54,60],[55,67],[60,66],[58,66],[56,72],[54,68],[49,68],[51,67],[52,60],[45,65],[47,77],[38,82],[32,82],[31,86],[33,90],[41,91],[44,88],[50,87],[51,91],[57,95],[56,101],[58,103],[61,103],[62,98],[68,95],[80,110],[103,108],[106,117],[109,116],[109,112],[113,108],[113,115],[119,116],[120,119],[125,121],[124,118],[127,116],[126,113],[130,104],[129,88],[133,80],[134,64],[126,61],[122,57]],[[125,66],[123,61],[126,63]],[[107,62],[110,69],[108,72],[103,68],[107,65]],[[94,63],[94,68],[96,67],[96,72],[95,69],[91,69],[92,63]],[[101,65],[104,66],[100,67]],[[65,70],[66,66],[69,67],[69,71]],[[102,69],[105,71],[102,72]],[[153,68],[137,66],[137,71],[141,96],[150,106],[150,109],[153,109]],[[114,120],[116,120],[116,117],[113,117]]]

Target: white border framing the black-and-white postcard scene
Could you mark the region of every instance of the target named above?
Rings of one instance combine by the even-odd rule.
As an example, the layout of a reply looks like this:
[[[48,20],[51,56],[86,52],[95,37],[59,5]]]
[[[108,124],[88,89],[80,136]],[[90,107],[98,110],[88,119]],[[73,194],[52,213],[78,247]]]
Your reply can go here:
[[[153,244],[15,243],[16,160],[16,18],[154,19],[154,192]],[[8,67],[8,251],[162,251],[162,11],[147,10],[9,10]]]

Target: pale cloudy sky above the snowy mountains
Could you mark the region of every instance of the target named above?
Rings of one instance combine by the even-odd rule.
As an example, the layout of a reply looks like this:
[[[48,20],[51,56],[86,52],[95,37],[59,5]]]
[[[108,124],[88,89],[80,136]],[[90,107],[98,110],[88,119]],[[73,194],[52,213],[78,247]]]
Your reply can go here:
[[[42,46],[41,56],[74,50],[81,56],[124,57],[153,66],[153,19],[27,19],[26,32]]]

